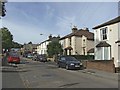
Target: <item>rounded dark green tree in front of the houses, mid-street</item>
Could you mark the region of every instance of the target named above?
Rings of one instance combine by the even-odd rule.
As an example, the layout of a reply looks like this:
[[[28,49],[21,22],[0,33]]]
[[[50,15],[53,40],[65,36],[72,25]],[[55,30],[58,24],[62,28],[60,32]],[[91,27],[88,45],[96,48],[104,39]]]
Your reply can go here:
[[[53,40],[47,45],[47,53],[50,57],[55,56],[56,58],[58,54],[62,54],[62,52],[63,49],[58,40]]]

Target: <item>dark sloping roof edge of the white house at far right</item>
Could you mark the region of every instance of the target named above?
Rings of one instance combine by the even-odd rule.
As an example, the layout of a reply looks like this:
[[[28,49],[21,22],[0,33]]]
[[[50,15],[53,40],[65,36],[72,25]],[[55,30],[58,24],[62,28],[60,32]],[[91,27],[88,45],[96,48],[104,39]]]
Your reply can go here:
[[[111,24],[118,23],[118,22],[120,22],[120,16],[118,16],[118,17],[116,17],[116,18],[114,18],[114,19],[112,19],[112,20],[110,20],[108,22],[105,22],[105,23],[103,23],[101,25],[95,26],[95,27],[93,27],[93,29],[98,29],[100,27],[111,25]]]

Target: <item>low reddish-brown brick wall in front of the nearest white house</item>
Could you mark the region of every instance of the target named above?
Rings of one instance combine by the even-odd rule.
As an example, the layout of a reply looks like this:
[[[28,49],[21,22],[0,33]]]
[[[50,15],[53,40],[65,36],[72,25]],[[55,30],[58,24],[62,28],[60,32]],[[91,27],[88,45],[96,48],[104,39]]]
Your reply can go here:
[[[86,61],[85,64],[87,69],[97,69],[115,73],[115,65],[113,60],[92,60]]]

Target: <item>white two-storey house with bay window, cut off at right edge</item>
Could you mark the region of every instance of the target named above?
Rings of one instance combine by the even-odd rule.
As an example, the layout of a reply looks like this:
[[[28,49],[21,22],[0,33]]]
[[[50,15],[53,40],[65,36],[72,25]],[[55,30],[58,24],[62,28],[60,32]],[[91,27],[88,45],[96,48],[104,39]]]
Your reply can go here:
[[[120,16],[95,26],[95,60],[111,60],[120,66]]]

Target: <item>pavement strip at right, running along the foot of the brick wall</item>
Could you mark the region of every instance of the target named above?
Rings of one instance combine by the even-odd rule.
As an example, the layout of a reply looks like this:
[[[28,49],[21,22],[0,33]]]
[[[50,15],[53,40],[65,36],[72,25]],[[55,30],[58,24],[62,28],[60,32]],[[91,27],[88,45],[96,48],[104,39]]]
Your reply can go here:
[[[91,75],[94,75],[97,77],[111,79],[111,80],[118,80],[120,78],[119,73],[110,73],[110,72],[105,72],[105,71],[99,71],[96,69],[84,69],[84,70],[82,70],[82,72],[87,73],[87,74],[91,74]]]

